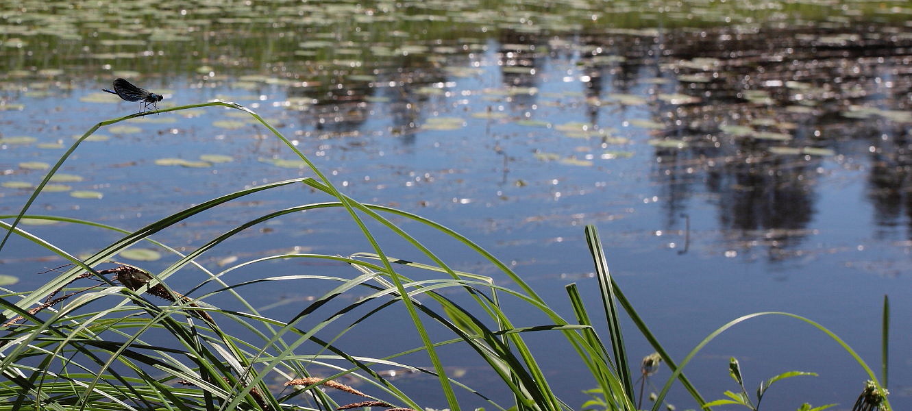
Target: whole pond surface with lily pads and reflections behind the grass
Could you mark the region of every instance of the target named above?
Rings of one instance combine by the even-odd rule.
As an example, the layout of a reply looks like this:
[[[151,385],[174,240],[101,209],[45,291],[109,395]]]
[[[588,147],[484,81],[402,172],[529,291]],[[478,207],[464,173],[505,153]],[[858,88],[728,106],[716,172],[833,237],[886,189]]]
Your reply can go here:
[[[160,108],[219,99],[253,109],[347,195],[460,231],[568,314],[567,283],[597,305],[583,235],[595,224],[620,287],[679,358],[742,314],[783,311],[829,327],[879,370],[887,294],[891,402],[907,409],[912,4],[743,3],[5,2],[0,212],[21,211],[75,137],[141,109],[101,91],[126,77],[163,95]],[[30,212],[136,230],[234,190],[309,175],[248,115],[184,110],[102,128]],[[271,190],[155,238],[188,252],[266,212],[320,200],[300,187]],[[25,222],[75,255],[119,238]],[[477,255],[397,222],[456,268],[492,273]],[[391,255],[419,257],[380,240]],[[217,269],[291,250],[347,255],[369,246],[342,212],[307,212],[244,231],[198,261]],[[140,263],[149,254],[121,257]],[[174,260],[141,264],[154,271]],[[64,263],[15,238],[0,262],[19,291]],[[239,271],[232,281],[350,272],[265,266],[271,271]],[[181,278],[176,290],[203,277]],[[296,313],[326,290],[264,286],[250,301]],[[370,351],[420,345],[398,318],[363,324]],[[627,333],[634,362],[652,352],[636,335]],[[552,384],[581,405],[594,385],[566,360],[569,346],[544,336],[540,344],[550,350],[542,362]],[[485,395],[503,396],[463,354],[448,354],[452,366]],[[819,373],[781,383],[764,400],[773,409],[848,409],[866,379],[818,331],[763,318],[723,334],[689,365],[703,396],[736,389],[730,356],[749,387],[785,371]],[[445,405],[433,378],[414,379],[417,399]],[[671,402],[692,406],[682,390]]]

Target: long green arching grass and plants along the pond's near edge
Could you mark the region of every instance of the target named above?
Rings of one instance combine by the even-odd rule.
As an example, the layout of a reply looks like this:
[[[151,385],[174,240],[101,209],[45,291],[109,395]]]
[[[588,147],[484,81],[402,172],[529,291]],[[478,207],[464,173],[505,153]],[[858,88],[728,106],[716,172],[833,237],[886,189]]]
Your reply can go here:
[[[150,114],[214,107],[238,109],[255,118],[275,139],[281,140],[287,149],[294,152],[314,177],[234,191],[178,211],[137,231],[124,231],[93,221],[28,213],[57,170],[77,151],[80,143],[99,128]],[[223,207],[255,192],[292,185],[306,186],[311,192],[322,193],[325,199],[275,210],[246,221],[186,254],[155,240],[157,232],[171,227],[180,229],[181,221],[193,215]],[[347,256],[280,253],[237,262],[221,267],[217,272],[197,261],[205,252],[238,232],[285,214],[315,211],[318,215],[319,211],[326,209],[347,212],[370,249]],[[88,258],[80,259],[20,227],[19,222],[26,218],[81,224],[86,228],[118,231],[123,236]],[[422,228],[460,242],[467,250],[496,267],[498,275],[508,279],[512,286],[498,285],[492,276],[453,269],[430,243],[417,240],[409,231],[394,223],[393,218],[419,223]],[[462,409],[459,397],[466,394],[482,398],[490,409],[503,411],[579,409],[578,405],[566,404],[554,392],[545,370],[536,361],[536,354],[525,340],[528,334],[558,333],[565,337],[566,344],[573,347],[578,360],[586,365],[591,375],[591,382],[587,384],[596,386],[594,390],[587,391],[593,400],[584,407],[632,411],[641,409],[645,381],[636,380],[635,364],[628,360],[620,325],[624,316],[627,317],[625,321],[632,322],[636,331],[657,352],[640,365],[640,378],[652,375],[659,362],[665,363],[672,371],[649,407],[653,411],[667,406],[666,396],[674,384],[682,385],[697,406],[734,405],[757,410],[762,396],[773,383],[813,373],[790,371],[775,375],[763,381],[756,396],[751,399],[741,376],[741,367],[732,358],[730,374],[740,386],[740,393],[727,391],[727,398],[710,402],[689,382],[684,368],[718,335],[735,325],[769,315],[811,325],[855,359],[869,382],[856,400],[854,410],[892,409],[886,399],[885,388],[889,324],[886,297],[879,375],[824,325],[793,313],[765,312],[741,316],[706,336],[683,359],[672,358],[611,277],[595,226],[586,227],[586,241],[596,269],[602,311],[596,313],[587,308],[577,285],[571,283],[565,286],[565,291],[573,313],[562,315],[549,307],[521,276],[513,272],[509,264],[501,262],[457,231],[407,211],[347,197],[282,133],[254,111],[234,103],[216,101],[165,108],[98,123],[77,139],[57,164],[48,170],[22,211],[4,216],[4,219],[0,221],[6,230],[5,238],[0,242],[0,251],[11,236],[16,236],[54,252],[69,264],[60,267],[54,279],[34,291],[4,289],[4,295],[0,297],[5,318],[5,324],[0,327],[3,332],[0,335],[0,354],[3,354],[0,371],[4,375],[0,381],[0,396],[5,398],[5,403],[0,404],[0,410],[330,410],[369,406],[405,411],[429,406],[420,405],[399,386],[378,374],[374,365],[392,365],[433,375],[439,383],[440,403],[430,406],[448,407],[452,411]],[[405,241],[412,248],[412,254],[402,258],[389,255],[377,240],[379,230],[389,231]],[[152,244],[173,253],[179,260],[157,272],[144,270],[141,265],[114,261],[119,252],[138,243]],[[300,259],[345,263],[355,275],[264,276],[242,283],[232,283],[230,276],[226,275],[265,262],[294,262]],[[109,268],[111,264],[113,267]],[[171,276],[181,276],[186,272],[203,272],[207,279],[189,290],[172,290],[168,286]],[[94,285],[84,284],[92,281]],[[244,300],[245,287],[254,284],[275,283],[279,287],[288,283],[287,286],[299,287],[301,283],[316,281],[336,285],[331,291],[306,303],[291,318],[272,318],[258,312]],[[213,287],[214,291],[209,291]],[[348,293],[358,293],[359,298],[339,303],[338,297]],[[465,297],[460,298],[460,302],[471,303],[457,303],[453,293]],[[224,296],[230,296],[236,306],[222,307],[208,303]],[[511,309],[502,303],[503,300],[523,303],[526,309],[543,314],[548,323],[514,325]],[[412,324],[412,329],[420,337],[420,346],[384,357],[362,356],[340,347],[339,343],[344,341],[352,328],[369,323],[374,315],[389,311],[391,307],[397,307],[398,313],[404,313],[402,321]],[[596,324],[595,318],[602,317],[606,319],[606,324]],[[326,339],[323,335],[326,332],[322,331],[337,330],[333,326],[343,323],[348,325]],[[604,330],[606,326],[607,335],[600,334],[599,330]],[[440,330],[446,333],[443,339]],[[462,344],[481,358],[509,388],[513,398],[487,397],[482,387],[472,386],[470,381],[461,381],[458,376],[451,375],[439,354],[440,349],[451,344]],[[314,346],[318,347],[316,351],[309,349]],[[400,362],[404,357],[412,358],[413,354],[421,354],[424,361],[432,366],[419,367]],[[332,372],[313,375],[314,369]],[[355,389],[340,383],[343,378],[358,381],[359,385],[368,389]],[[273,384],[277,380],[282,381],[278,386]],[[638,390],[637,383],[640,384]],[[361,398],[356,402],[347,402],[350,396],[346,396],[345,400],[339,399],[335,395],[337,391]],[[812,411],[825,407],[802,405],[798,409]]]

